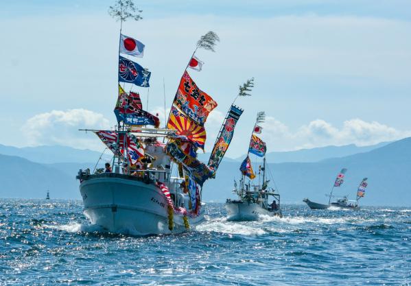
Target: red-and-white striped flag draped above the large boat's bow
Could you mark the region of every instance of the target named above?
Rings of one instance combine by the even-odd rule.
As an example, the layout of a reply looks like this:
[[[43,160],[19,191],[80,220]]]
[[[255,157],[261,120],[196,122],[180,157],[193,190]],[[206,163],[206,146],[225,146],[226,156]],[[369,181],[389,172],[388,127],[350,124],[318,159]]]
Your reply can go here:
[[[127,156],[128,160],[130,160],[130,165],[135,165],[137,160],[144,156],[143,145],[132,134],[118,134],[117,132],[108,131],[97,131],[95,134],[116,156],[124,156],[124,149],[127,146]],[[126,141],[124,141],[125,138]]]

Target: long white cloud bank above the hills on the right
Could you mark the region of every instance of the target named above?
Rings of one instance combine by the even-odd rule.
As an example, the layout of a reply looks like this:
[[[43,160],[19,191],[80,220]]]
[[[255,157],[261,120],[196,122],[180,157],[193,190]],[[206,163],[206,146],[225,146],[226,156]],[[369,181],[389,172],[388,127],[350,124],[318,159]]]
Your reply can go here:
[[[344,121],[341,128],[322,119],[310,121],[296,130],[290,130],[274,117],[263,123],[263,139],[271,150],[298,150],[327,145],[373,145],[411,136],[411,130],[397,130],[377,121],[361,119]]]

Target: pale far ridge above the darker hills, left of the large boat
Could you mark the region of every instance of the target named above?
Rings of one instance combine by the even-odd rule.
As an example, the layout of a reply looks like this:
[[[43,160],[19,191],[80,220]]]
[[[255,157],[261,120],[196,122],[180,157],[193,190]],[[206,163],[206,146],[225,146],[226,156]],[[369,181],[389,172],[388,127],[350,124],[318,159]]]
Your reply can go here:
[[[0,154],[19,156],[36,163],[82,163],[97,162],[102,153],[91,150],[80,150],[66,146],[17,148],[0,144]],[[106,151],[106,154],[109,154],[109,151]],[[110,158],[110,156],[106,156],[105,158]]]

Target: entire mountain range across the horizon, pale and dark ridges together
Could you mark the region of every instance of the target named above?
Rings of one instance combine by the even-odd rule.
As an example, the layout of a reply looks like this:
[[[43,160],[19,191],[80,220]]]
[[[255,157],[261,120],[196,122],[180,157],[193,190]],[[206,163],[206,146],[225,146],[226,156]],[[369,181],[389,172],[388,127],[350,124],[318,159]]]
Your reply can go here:
[[[325,194],[331,190],[336,174],[347,167],[346,180],[342,187],[334,190],[336,195],[355,198],[358,184],[368,177],[362,204],[411,205],[411,138],[367,147],[347,145],[273,153],[277,160],[290,160],[267,164],[267,173],[272,177],[270,186],[278,189],[283,203],[302,203],[303,198],[327,202]],[[0,145],[0,197],[44,198],[49,189],[52,198],[80,199],[75,175],[80,168],[93,169],[100,155],[62,146]],[[202,159],[208,160],[207,154],[202,154]],[[239,162],[241,160],[224,158],[216,178],[204,184],[205,201],[224,202],[226,198],[233,198],[231,189],[233,181],[240,176]]]

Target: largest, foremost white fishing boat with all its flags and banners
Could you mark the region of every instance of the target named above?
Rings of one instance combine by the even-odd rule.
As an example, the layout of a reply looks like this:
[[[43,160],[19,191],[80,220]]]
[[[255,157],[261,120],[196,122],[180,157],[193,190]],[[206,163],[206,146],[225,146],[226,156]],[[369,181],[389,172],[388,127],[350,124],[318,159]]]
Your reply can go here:
[[[132,15],[136,11],[132,1],[118,1],[110,9],[110,14],[121,20],[119,94],[114,110],[117,126],[89,131],[113,152],[113,159],[105,168],[78,172],[84,215],[91,224],[113,233],[182,233],[204,219],[202,186],[216,171],[196,157],[198,148],[204,150],[204,123],[217,103],[198,88],[187,69],[200,71],[202,62],[194,54],[197,49],[214,51],[219,38],[208,32],[198,40],[165,128],[159,128],[157,115],[143,110],[140,95],[133,90],[149,86],[150,71],[121,56],[143,58],[144,45],[121,32],[125,19],[139,19],[139,15]]]

